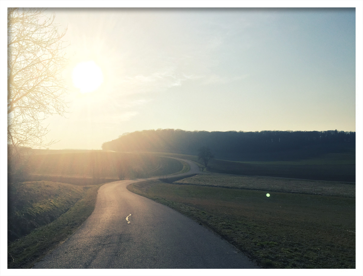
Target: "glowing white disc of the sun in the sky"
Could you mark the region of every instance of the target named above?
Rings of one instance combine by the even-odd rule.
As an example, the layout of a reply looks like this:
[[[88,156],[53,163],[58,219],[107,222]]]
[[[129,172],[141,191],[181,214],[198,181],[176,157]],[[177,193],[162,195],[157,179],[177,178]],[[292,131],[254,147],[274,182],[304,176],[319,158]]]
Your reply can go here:
[[[89,93],[97,88],[103,82],[101,68],[94,61],[85,61],[78,63],[72,73],[73,84],[81,93]]]

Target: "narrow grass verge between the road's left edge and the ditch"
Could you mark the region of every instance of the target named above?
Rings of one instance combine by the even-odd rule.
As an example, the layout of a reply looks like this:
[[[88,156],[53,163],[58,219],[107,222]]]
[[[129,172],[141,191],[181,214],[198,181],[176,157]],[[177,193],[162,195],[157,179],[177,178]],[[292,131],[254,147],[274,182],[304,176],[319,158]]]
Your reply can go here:
[[[64,185],[67,186],[67,184]],[[8,243],[8,268],[31,268],[36,261],[72,235],[93,212],[97,191],[101,186],[102,184],[75,186],[76,190],[79,188],[83,190],[83,196],[67,212],[53,222],[40,226],[30,234]],[[31,198],[32,194],[28,196]],[[58,211],[51,213],[55,215]]]

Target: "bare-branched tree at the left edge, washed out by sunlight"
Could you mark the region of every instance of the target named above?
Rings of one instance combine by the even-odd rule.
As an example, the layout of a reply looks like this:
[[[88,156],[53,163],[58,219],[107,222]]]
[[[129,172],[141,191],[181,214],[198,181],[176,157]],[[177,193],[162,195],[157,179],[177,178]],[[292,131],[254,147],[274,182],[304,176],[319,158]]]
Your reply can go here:
[[[55,15],[44,11],[8,8],[8,145],[13,148],[44,145],[49,130],[42,122],[67,107],[60,75],[67,29],[58,33]]]

